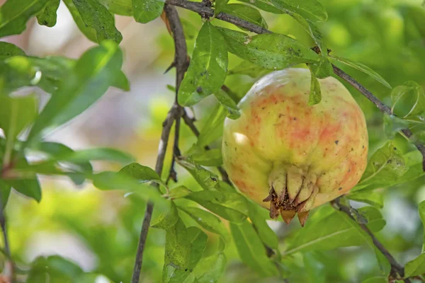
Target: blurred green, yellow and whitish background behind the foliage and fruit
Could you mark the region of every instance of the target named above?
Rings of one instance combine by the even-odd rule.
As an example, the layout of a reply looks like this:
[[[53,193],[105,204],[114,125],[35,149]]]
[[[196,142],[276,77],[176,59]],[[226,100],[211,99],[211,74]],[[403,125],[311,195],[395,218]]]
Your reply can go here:
[[[320,2],[327,8],[329,19],[318,25],[331,54],[367,65],[393,87],[411,80],[425,86],[425,2]],[[192,52],[202,21],[193,12],[179,12],[188,38],[188,51]],[[270,30],[295,37],[307,46],[314,45],[310,36],[290,16],[261,13]],[[218,20],[213,23],[234,28]],[[167,84],[174,84],[174,71],[162,74],[173,61],[174,45],[160,19],[141,25],[130,17],[117,16],[116,25],[123,33],[124,71],[131,81],[131,91],[122,93],[111,89],[93,108],[55,132],[50,139],[74,149],[113,146],[133,154],[139,163],[154,167],[162,121],[174,99],[172,91],[166,88]],[[30,21],[25,33],[6,37],[6,40],[27,54],[39,57],[50,54],[79,57],[94,45],[79,33],[63,4],[54,28]],[[240,59],[229,54],[230,70],[239,62]],[[388,88],[355,69],[341,68],[384,103],[391,104]],[[227,77],[226,85],[241,97],[254,81],[249,76],[231,75]],[[349,89],[365,113],[371,154],[387,141],[382,113],[358,91]],[[40,90],[35,91],[44,100],[47,98]],[[199,127],[214,104],[214,99],[207,98],[194,109]],[[181,130],[181,149],[186,151],[196,138],[186,126]],[[413,149],[402,137],[396,137],[395,143],[404,152]],[[218,147],[220,143],[212,146]],[[164,175],[168,172],[170,157],[166,159]],[[118,165],[94,165],[97,170],[118,169]],[[178,173],[179,180],[196,190],[198,185],[186,172],[178,168]],[[417,205],[425,200],[424,181],[423,177],[379,190],[385,196],[382,213],[387,224],[378,233],[378,238],[402,265],[421,253],[424,231]],[[67,180],[50,178],[42,178],[41,183],[43,197],[39,204],[13,193],[6,208],[11,250],[19,269],[25,272],[28,264],[40,255],[60,255],[86,272],[94,272],[96,282],[130,282],[145,201],[137,195],[125,197],[123,192],[99,191],[89,183],[74,187]],[[154,218],[157,214],[158,209]],[[269,224],[278,233],[282,245],[291,231],[300,229],[295,221],[290,226],[280,221],[269,221]],[[208,245],[217,245],[217,235],[208,233],[208,236]],[[164,243],[164,231],[149,230],[141,282],[160,281]],[[239,260],[232,244],[226,255],[228,264],[220,282],[273,282],[272,279],[260,279],[249,270]],[[305,272],[306,268],[317,272]],[[373,250],[350,247],[307,253],[304,258],[295,254],[290,272],[289,282],[361,282],[377,275],[378,267]]]

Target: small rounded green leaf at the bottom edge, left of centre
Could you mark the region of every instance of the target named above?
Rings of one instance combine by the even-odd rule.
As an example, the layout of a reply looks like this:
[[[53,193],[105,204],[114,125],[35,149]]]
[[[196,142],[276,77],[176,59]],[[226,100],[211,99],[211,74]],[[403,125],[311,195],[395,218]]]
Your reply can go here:
[[[193,270],[196,283],[217,283],[225,272],[225,267],[226,256],[224,253],[217,253],[207,258],[202,258]]]

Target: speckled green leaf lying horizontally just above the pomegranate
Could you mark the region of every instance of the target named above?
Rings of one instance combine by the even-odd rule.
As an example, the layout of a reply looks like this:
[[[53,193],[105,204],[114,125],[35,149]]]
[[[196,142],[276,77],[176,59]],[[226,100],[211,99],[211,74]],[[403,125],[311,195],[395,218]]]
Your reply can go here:
[[[229,52],[264,69],[285,69],[296,64],[318,62],[319,55],[286,35],[254,35],[220,28]]]

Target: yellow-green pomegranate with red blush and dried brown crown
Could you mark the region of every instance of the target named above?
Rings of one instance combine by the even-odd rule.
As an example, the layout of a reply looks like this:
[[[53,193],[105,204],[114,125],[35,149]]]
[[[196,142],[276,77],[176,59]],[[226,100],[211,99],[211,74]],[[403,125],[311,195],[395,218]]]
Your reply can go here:
[[[241,117],[225,120],[223,162],[251,200],[304,226],[310,209],[348,192],[365,170],[365,117],[338,80],[319,80],[322,102],[309,106],[310,71],[273,71],[239,103]],[[269,202],[269,203],[268,203]]]

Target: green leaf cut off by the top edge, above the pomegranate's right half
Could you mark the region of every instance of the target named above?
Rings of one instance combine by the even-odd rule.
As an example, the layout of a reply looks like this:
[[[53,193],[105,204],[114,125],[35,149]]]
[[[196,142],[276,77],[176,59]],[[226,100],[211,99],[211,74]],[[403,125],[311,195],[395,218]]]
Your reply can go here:
[[[327,12],[324,6],[316,0],[271,0],[276,8],[285,8],[301,15],[310,21],[326,21]]]

